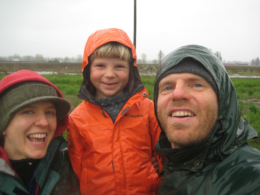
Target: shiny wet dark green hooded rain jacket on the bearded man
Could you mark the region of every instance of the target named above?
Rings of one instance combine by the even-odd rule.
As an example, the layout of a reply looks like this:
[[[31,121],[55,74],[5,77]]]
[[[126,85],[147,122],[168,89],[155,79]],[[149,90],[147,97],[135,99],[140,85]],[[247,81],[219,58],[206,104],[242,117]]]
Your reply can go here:
[[[218,119],[205,141],[186,149],[172,149],[161,128],[155,151],[164,167],[157,194],[260,194],[260,152],[247,143],[257,132],[241,118],[235,88],[222,62],[210,50],[184,46],[162,60],[154,89],[156,116],[159,77],[186,57],[201,62],[215,79]]]

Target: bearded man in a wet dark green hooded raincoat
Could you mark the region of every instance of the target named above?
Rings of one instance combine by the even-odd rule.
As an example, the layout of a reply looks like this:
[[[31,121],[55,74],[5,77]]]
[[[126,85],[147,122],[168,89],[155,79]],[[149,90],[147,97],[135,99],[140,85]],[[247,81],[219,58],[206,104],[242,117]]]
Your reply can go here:
[[[164,165],[158,194],[260,194],[260,152],[247,143],[257,132],[209,49],[184,46],[161,61],[154,106]]]

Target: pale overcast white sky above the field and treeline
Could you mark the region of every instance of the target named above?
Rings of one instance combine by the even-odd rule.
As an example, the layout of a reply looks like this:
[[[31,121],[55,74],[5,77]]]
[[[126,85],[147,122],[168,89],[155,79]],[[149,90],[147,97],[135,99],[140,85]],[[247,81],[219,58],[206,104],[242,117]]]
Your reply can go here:
[[[180,46],[220,51],[223,61],[260,57],[259,0],[137,0],[137,58]],[[119,28],[134,39],[134,0],[0,0],[0,56],[83,55],[90,34]]]

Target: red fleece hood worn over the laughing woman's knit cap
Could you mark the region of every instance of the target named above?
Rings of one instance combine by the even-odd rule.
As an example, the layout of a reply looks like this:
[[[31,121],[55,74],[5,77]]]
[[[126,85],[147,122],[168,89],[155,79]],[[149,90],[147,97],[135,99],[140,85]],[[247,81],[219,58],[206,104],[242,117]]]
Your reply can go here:
[[[40,81],[46,83],[47,85],[53,87],[57,91],[59,97],[64,99],[61,91],[54,84],[52,84],[50,81],[48,81],[40,74],[30,70],[20,70],[4,77],[0,81],[0,94],[4,92],[4,90],[8,89],[9,87],[25,81]],[[53,139],[56,138],[58,135],[62,134],[67,129],[68,124],[69,124],[69,114],[67,114],[62,120],[57,121],[57,128]]]

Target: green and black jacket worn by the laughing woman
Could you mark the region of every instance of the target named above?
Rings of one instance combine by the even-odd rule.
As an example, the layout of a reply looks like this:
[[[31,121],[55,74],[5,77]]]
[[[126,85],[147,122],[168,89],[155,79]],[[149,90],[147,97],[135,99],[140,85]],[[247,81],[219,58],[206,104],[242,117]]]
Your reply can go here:
[[[37,168],[36,182],[39,185],[37,194],[80,194],[79,181],[69,162],[67,145],[62,136],[50,142],[47,153]],[[0,158],[0,195],[2,194],[30,195],[6,160]]]

